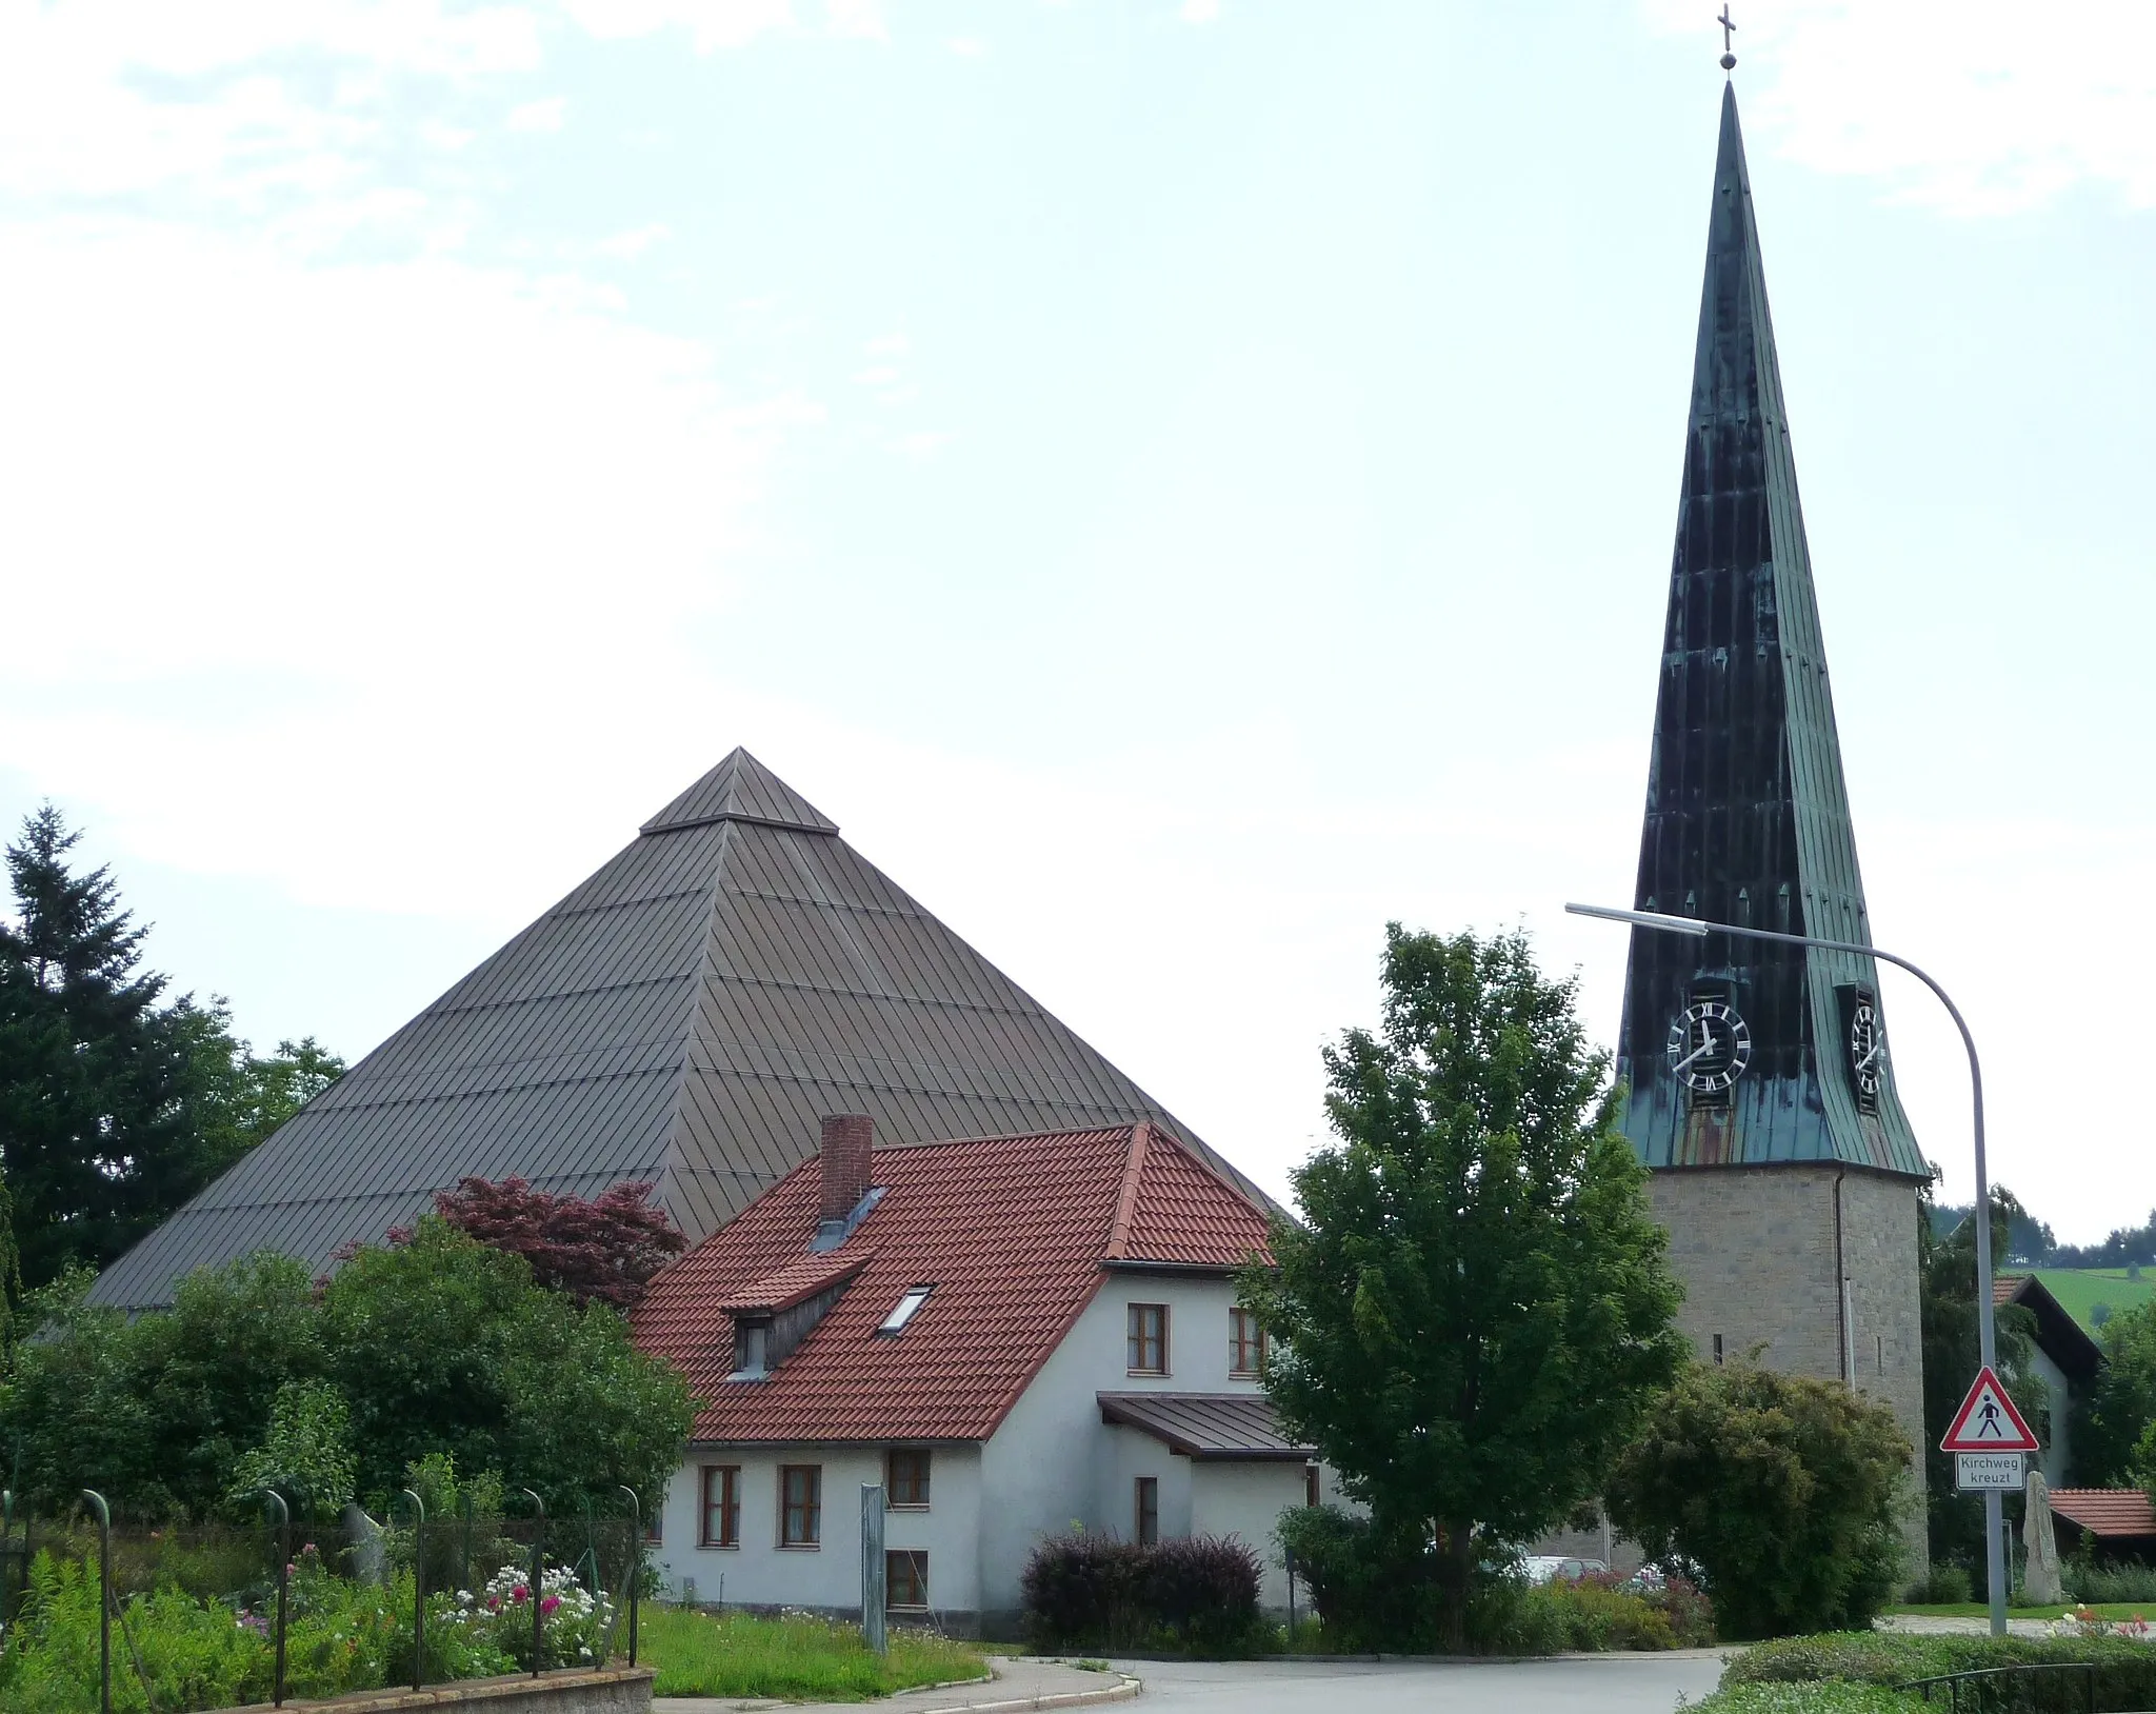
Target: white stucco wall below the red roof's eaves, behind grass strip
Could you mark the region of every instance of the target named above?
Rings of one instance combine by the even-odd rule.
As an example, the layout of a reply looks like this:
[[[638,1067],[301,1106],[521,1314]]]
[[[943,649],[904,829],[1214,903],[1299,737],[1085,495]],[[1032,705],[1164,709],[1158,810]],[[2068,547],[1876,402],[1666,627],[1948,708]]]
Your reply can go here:
[[[705,1464],[740,1464],[742,1546],[699,1544]],[[824,1468],[824,1539],[815,1548],[778,1546],[778,1466]],[[690,1447],[666,1485],[664,1539],[653,1561],[666,1591],[718,1606],[860,1606],[860,1488],[884,1479],[882,1447]],[[972,1613],[979,1606],[981,1449],[934,1447],[927,1509],[884,1516],[886,1548],[929,1557],[929,1606]]]

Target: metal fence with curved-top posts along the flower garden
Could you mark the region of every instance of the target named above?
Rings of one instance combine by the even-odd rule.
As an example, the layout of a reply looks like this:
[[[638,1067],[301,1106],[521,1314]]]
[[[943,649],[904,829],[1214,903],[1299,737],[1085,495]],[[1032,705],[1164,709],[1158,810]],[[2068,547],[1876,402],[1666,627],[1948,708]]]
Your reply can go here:
[[[395,1496],[384,1518],[345,1507],[336,1520],[293,1516],[282,1494],[261,1496],[259,1522],[164,1524],[132,1520],[103,1494],[82,1490],[67,1511],[39,1513],[0,1492],[0,1645],[39,1617],[39,1602],[71,1591],[97,1613],[97,1695],[110,1714],[112,1686],[134,1675],[151,1714],[179,1714],[160,1703],[144,1660],[153,1600],[188,1598],[222,1608],[239,1630],[270,1647],[272,1701],[287,1697],[287,1643],[295,1626],[295,1593],[330,1587],[351,1593],[403,1593],[410,1613],[397,1619],[392,1684],[414,1690],[455,1677],[444,1639],[429,1645],[429,1619],[461,1626],[481,1619],[502,1639],[520,1671],[606,1664],[627,1654],[636,1664],[638,1608],[649,1578],[645,1520],[638,1496],[621,1488],[612,1507],[576,1498],[550,1511],[533,1490],[515,1490],[502,1511],[474,1516],[470,1505],[429,1516],[412,1490]],[[586,1615],[586,1660],[561,1660],[556,1608],[571,1602]],[[528,1641],[522,1632],[530,1615]],[[552,1632],[552,1634],[550,1634]]]

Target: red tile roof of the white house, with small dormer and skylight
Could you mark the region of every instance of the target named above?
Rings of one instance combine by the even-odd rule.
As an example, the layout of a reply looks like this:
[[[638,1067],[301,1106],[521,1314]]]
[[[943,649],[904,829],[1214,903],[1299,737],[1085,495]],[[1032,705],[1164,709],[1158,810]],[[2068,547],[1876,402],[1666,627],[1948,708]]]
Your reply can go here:
[[[651,1283],[636,1341],[688,1376],[696,1440],[985,1440],[1104,1263],[1266,1255],[1257,1203],[1151,1123],[877,1149],[873,1181],[882,1201],[828,1255],[808,1257],[821,1171],[806,1160]],[[727,1382],[729,1304],[854,1261],[858,1276],[768,1380]],[[912,1285],[936,1291],[880,1337]]]

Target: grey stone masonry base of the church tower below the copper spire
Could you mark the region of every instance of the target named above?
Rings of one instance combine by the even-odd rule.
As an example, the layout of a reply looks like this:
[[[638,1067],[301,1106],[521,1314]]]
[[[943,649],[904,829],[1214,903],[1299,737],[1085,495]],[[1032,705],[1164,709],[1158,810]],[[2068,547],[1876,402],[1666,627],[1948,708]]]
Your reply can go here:
[[[1841,1270],[1850,1281],[1856,1391],[1887,1404],[1910,1445],[1906,1576],[1925,1574],[1923,1339],[1917,1322],[1917,1186],[1839,1166],[1703,1166],[1656,1173],[1656,1218],[1684,1281],[1677,1326],[1701,1363],[1759,1350],[1770,1369],[1839,1380],[1841,1285],[1835,1272],[1835,1181],[1841,1181]]]

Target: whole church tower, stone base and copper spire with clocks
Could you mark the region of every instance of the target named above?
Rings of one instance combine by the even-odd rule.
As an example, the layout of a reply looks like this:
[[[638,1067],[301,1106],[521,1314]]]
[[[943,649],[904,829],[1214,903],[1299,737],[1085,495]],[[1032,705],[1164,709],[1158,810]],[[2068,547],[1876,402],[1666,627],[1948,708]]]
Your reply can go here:
[[[1692,410],[1662,636],[1639,910],[1871,940],[1796,498],[1759,231],[1723,93]],[[1705,1363],[1884,1399],[1923,1447],[1923,1153],[1869,957],[1632,931],[1626,1134]],[[1923,1460],[1915,1466],[1921,1496]],[[1910,1574],[1925,1565],[1910,1516]]]

